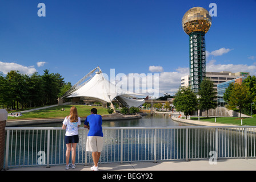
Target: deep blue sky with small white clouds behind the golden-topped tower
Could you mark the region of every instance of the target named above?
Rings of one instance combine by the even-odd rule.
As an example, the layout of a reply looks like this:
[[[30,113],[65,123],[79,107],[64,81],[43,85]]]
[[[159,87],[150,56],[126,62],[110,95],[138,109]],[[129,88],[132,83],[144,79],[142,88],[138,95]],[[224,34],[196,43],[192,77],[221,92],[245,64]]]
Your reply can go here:
[[[206,34],[206,70],[256,75],[255,0],[1,0],[0,72],[49,69],[71,84],[97,66],[107,75],[159,73],[159,92],[174,94],[189,75],[182,17],[194,6],[210,11],[210,3],[217,16]]]

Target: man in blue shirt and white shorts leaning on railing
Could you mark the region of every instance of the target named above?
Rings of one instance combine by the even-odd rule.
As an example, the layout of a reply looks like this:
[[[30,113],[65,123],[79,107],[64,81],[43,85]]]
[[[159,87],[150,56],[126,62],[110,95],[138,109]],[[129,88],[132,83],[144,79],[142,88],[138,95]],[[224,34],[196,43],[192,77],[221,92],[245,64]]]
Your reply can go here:
[[[86,151],[93,152],[94,166],[91,170],[98,171],[99,156],[103,147],[102,117],[97,114],[97,109],[91,109],[91,115],[85,119],[84,127],[89,129],[86,142]]]

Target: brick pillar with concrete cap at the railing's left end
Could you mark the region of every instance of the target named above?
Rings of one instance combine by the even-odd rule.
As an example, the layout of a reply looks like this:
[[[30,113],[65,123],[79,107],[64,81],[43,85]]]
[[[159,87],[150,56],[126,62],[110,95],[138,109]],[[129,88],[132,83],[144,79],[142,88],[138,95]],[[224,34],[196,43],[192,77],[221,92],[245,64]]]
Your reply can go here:
[[[7,111],[0,109],[0,171],[3,169],[5,156],[5,123],[7,120]]]

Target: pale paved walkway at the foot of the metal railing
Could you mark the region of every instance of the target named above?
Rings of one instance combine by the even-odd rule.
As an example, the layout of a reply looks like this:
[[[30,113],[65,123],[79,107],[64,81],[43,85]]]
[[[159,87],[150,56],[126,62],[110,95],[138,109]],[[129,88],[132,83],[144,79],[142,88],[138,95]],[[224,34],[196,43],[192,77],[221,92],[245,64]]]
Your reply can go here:
[[[211,160],[211,162],[213,162]],[[167,162],[137,162],[99,164],[100,171],[255,171],[256,159],[219,159],[217,164],[209,160],[174,160]],[[41,167],[15,167],[8,171],[91,171],[90,166],[78,164],[75,169],[65,169],[65,165]]]

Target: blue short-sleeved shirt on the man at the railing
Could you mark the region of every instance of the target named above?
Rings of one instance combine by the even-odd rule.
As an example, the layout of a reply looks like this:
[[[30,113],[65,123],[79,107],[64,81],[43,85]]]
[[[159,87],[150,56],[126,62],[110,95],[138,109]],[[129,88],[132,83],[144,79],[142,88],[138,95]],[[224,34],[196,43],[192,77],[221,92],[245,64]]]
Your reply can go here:
[[[84,125],[90,126],[90,130],[87,136],[103,137],[101,115],[99,114],[88,115],[85,119]]]

